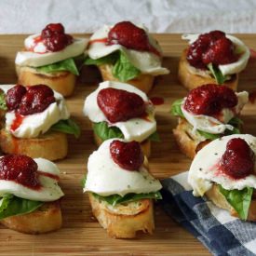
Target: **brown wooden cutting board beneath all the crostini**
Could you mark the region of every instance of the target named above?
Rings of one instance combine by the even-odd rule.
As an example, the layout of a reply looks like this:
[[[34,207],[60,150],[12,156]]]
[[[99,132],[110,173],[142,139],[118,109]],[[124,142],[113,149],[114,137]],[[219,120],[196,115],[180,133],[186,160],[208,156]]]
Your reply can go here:
[[[84,37],[86,35],[79,36]],[[25,35],[0,35],[0,84],[16,83],[14,59],[23,46]],[[185,96],[186,91],[177,80],[177,68],[186,42],[181,34],[155,34],[164,50],[164,66],[170,74],[158,77],[150,97],[162,97],[165,102],[156,107],[157,130],[161,142],[153,143],[150,168],[157,178],[166,178],[187,170],[191,161],[182,155],[172,136],[177,120],[169,114],[172,101]],[[256,35],[239,34],[239,38],[256,49]],[[8,230],[0,225],[1,255],[209,255],[204,246],[173,222],[159,206],[155,207],[155,233],[137,239],[117,240],[109,238],[93,218],[88,196],[83,195],[81,179],[87,170],[88,155],[96,150],[88,119],[82,114],[82,107],[88,93],[101,81],[97,69],[83,70],[74,96],[68,105],[74,119],[82,128],[79,140],[69,138],[69,155],[58,161],[61,168],[61,187],[65,193],[62,199],[63,226],[60,231],[47,235],[30,236]],[[240,74],[239,90],[256,90],[256,55],[249,61],[248,68]],[[249,103],[242,115],[244,132],[256,136],[256,103]],[[56,149],[58,150],[58,149]]]

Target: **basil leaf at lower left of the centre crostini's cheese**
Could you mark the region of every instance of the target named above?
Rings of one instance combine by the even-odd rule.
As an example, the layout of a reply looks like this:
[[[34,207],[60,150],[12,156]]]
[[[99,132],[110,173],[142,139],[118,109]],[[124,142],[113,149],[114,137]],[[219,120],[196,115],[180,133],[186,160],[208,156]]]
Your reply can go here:
[[[102,141],[113,138],[124,139],[122,131],[116,127],[109,127],[107,122],[93,123],[93,130]]]

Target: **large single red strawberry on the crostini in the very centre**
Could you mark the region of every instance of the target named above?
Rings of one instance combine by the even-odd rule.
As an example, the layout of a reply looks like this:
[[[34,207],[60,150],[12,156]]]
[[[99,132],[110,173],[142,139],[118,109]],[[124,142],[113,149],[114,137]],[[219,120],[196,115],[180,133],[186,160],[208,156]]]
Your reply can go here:
[[[111,123],[127,121],[145,114],[141,96],[123,89],[103,88],[97,96],[98,105]]]

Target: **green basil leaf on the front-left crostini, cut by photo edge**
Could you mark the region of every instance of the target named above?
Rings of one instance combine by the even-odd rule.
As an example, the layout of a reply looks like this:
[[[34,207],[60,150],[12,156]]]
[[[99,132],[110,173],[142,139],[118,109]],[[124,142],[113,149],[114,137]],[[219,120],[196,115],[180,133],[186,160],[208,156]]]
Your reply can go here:
[[[43,204],[44,202],[23,199],[15,195],[3,195],[0,200],[0,220],[33,212]]]

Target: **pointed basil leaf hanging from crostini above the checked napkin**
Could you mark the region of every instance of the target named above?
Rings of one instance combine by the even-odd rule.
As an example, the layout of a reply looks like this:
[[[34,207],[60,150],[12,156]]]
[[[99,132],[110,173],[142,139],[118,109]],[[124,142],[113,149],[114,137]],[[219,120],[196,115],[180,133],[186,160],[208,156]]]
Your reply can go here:
[[[253,188],[246,187],[242,190],[226,190],[219,185],[220,192],[225,196],[229,204],[236,209],[239,217],[242,220],[247,220],[249,205],[251,201],[251,195],[253,193]]]

